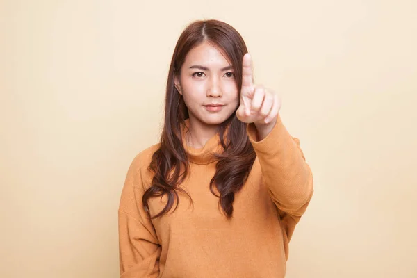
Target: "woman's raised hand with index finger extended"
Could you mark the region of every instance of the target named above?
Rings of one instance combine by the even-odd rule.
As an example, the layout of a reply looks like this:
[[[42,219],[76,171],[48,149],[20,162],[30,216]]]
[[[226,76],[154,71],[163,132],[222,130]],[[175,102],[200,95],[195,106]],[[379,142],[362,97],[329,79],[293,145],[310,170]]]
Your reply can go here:
[[[254,85],[252,74],[252,58],[249,53],[243,56],[242,90],[240,91],[240,106],[236,117],[242,122],[254,123],[256,126],[273,123],[281,108],[280,97],[264,88]]]

